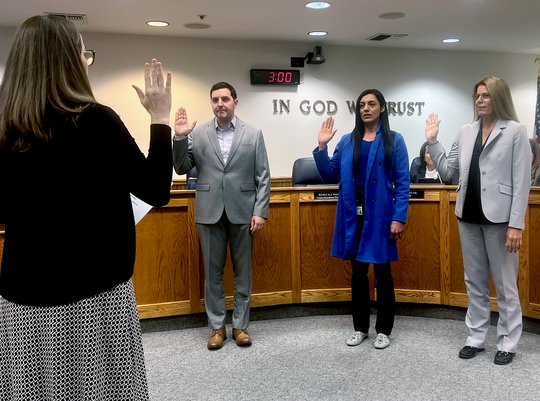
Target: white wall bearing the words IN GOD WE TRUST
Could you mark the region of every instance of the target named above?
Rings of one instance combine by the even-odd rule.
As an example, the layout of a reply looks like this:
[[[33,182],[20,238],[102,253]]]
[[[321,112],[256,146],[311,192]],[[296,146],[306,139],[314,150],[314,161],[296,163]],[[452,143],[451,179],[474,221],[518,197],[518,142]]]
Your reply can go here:
[[[0,74],[11,42],[11,30],[0,30]],[[185,106],[191,120],[204,123],[213,115],[210,86],[228,81],[235,86],[237,115],[263,130],[273,177],[290,176],[295,159],[311,154],[318,128],[326,114],[309,114],[300,102],[333,101],[336,138],[350,132],[354,116],[346,101],[356,101],[367,88],[382,91],[387,101],[424,102],[422,114],[390,116],[392,129],[401,132],[412,159],[424,142],[424,122],[436,111],[441,118],[440,140],[448,149],[460,125],[472,121],[473,85],[486,75],[505,78],[512,90],[521,122],[532,136],[536,102],[537,66],[534,56],[460,51],[428,51],[326,46],[326,63],[301,70],[297,88],[252,86],[251,68],[290,68],[290,57],[313,51],[309,43],[194,40],[112,34],[83,35],[87,48],[96,50],[90,81],[96,98],[113,107],[143,151],[148,145],[149,118],[131,88],[144,86],[143,64],[152,57],[173,74],[173,107]],[[274,100],[289,102],[290,112],[274,114]],[[320,111],[321,109],[319,109]],[[172,117],[173,118],[173,117]],[[173,121],[171,118],[171,122]]]

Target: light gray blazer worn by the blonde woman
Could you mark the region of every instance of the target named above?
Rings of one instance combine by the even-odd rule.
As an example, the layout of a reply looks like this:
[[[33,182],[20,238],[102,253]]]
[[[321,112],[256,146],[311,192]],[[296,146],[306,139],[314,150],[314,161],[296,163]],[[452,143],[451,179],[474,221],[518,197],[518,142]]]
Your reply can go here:
[[[429,145],[429,154],[443,181],[459,174],[456,216],[463,215],[474,143],[480,121],[461,127],[448,156],[442,145]],[[523,229],[531,186],[531,147],[523,124],[499,120],[480,154],[482,210],[493,223]]]

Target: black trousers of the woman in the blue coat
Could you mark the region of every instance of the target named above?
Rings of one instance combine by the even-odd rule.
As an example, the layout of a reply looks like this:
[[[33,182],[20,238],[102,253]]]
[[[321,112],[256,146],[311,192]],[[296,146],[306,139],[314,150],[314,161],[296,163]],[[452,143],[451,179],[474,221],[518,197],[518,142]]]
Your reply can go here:
[[[364,228],[364,216],[358,216],[357,220],[357,240],[360,242],[360,233]],[[352,315],[355,331],[367,333],[369,331],[369,263],[351,260],[352,280]],[[390,262],[373,264],[377,288],[377,320],[375,330],[377,334],[383,333],[387,336],[392,333],[394,327],[394,317],[396,314],[396,295],[394,292],[394,279],[392,278],[392,267]]]

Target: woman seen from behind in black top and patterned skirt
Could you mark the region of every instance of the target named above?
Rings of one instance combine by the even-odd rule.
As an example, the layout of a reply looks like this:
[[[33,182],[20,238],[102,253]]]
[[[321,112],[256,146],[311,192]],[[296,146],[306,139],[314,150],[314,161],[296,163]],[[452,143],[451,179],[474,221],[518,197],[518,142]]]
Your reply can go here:
[[[148,156],[97,103],[74,24],[16,31],[0,87],[0,399],[148,400],[130,193],[168,203],[171,75],[145,65]],[[90,61],[90,62],[88,62]],[[76,179],[74,179],[76,177]]]

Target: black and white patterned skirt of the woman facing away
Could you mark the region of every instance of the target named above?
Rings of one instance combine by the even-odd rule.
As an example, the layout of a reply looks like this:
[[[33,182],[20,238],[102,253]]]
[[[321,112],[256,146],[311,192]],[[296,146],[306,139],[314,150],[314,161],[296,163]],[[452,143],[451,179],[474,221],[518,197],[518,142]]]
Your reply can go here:
[[[0,297],[0,400],[148,400],[131,280],[61,306]]]

